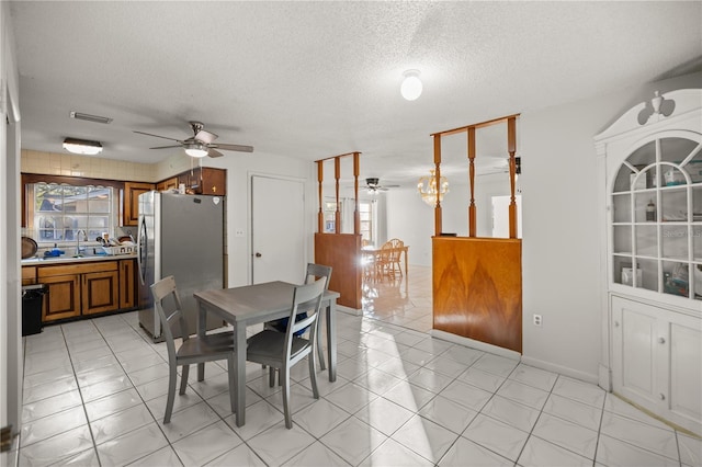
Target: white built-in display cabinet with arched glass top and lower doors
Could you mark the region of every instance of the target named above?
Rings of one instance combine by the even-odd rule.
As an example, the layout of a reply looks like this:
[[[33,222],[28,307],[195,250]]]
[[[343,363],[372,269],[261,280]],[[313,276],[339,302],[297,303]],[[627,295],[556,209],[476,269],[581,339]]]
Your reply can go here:
[[[615,394],[697,434],[702,434],[701,107],[699,89],[656,95],[595,138],[604,191],[604,379]]]

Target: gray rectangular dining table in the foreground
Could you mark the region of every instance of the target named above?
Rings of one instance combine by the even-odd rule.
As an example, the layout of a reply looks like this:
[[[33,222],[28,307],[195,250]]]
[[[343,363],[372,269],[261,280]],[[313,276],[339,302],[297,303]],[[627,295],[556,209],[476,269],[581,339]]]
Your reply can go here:
[[[214,314],[234,326],[237,426],[244,426],[246,423],[246,329],[249,326],[288,317],[296,285],[273,281],[240,287],[207,289],[193,294],[197,303],[197,334],[200,337],[205,334],[207,314]],[[327,324],[330,381],[337,379],[336,305],[339,297],[338,292],[326,291],[321,299],[321,310],[325,311],[324,318],[326,318]]]

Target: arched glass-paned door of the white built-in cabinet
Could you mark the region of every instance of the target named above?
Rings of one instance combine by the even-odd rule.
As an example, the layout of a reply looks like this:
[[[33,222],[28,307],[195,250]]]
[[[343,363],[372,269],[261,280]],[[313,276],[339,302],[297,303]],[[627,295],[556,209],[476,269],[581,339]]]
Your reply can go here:
[[[642,145],[620,167],[611,201],[614,282],[702,300],[702,144]]]

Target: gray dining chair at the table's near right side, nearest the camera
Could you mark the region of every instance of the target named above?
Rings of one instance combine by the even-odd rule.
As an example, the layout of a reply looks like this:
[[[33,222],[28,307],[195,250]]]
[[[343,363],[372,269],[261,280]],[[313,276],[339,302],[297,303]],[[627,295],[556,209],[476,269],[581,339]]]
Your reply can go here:
[[[275,371],[280,374],[283,386],[283,410],[285,412],[285,426],[293,428],[293,418],[290,411],[290,372],[293,365],[299,363],[305,356],[309,363],[309,380],[315,399],[319,399],[317,390],[317,375],[315,371],[315,346],[317,344],[317,324],[319,322],[319,309],[321,297],[325,293],[327,278],[321,277],[312,284],[298,285],[293,293],[293,303],[287,320],[285,333],[264,329],[247,340],[246,358],[249,362],[267,365],[270,372],[271,386],[274,385]],[[296,319],[306,314],[303,319]],[[309,339],[297,331],[309,327]]]

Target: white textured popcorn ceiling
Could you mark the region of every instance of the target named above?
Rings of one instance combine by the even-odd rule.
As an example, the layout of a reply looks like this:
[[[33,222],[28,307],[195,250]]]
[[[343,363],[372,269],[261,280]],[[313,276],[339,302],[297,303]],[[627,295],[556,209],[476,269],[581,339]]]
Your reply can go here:
[[[361,151],[362,176],[382,183],[426,173],[431,133],[653,81],[702,55],[699,1],[20,1],[11,14],[23,148],[60,152],[70,136],[156,162],[180,149],[149,150],[168,141],[133,130],[184,139],[196,119],[256,148],[225,157]],[[423,81],[414,102],[399,94],[410,68]],[[488,146],[490,170],[506,152]]]

